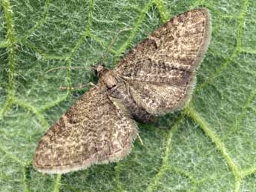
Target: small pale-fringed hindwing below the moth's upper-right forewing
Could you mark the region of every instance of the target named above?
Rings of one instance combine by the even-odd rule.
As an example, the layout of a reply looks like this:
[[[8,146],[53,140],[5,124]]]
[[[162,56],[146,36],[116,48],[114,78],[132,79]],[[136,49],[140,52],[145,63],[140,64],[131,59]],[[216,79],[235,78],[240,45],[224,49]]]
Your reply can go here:
[[[130,93],[137,105],[155,116],[164,115],[182,108],[188,102],[194,82],[191,85],[154,85],[148,82],[129,82]]]

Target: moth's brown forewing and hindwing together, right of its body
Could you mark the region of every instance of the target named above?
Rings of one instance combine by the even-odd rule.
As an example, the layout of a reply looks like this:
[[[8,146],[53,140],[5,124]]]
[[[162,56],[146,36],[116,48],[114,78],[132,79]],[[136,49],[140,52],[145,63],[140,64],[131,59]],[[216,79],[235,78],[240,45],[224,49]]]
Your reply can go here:
[[[183,107],[211,36],[208,10],[181,13],[132,49],[114,73],[130,85],[137,104],[160,115]]]

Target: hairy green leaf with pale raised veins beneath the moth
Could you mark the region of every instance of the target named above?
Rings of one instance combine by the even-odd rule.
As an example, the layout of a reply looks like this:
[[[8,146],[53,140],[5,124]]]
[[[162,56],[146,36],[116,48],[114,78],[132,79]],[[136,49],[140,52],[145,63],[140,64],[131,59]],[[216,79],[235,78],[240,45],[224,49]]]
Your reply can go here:
[[[1,0],[0,191],[256,191],[256,1]],[[108,165],[62,176],[39,173],[39,139],[96,81],[99,62],[123,32],[106,64],[171,16],[207,7],[212,39],[197,87],[182,112],[140,125],[144,145]],[[47,70],[85,66],[85,70]]]

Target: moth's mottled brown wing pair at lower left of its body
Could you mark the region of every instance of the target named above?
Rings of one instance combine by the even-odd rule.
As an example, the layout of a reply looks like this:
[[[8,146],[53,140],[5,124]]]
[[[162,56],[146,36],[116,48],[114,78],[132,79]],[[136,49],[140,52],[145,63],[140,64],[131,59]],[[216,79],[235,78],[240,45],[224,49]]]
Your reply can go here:
[[[117,161],[130,152],[136,122],[118,99],[99,90],[91,88],[45,133],[33,161],[38,171],[77,171]]]

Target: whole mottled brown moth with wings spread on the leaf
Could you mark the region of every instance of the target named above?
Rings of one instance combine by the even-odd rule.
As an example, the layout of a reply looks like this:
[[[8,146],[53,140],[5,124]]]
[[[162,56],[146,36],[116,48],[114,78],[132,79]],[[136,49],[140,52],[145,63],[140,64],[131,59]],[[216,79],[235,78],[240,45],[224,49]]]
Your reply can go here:
[[[47,130],[33,167],[68,173],[123,159],[138,134],[135,120],[149,122],[188,103],[210,36],[209,11],[189,10],[151,33],[113,70],[96,65],[99,82]]]

